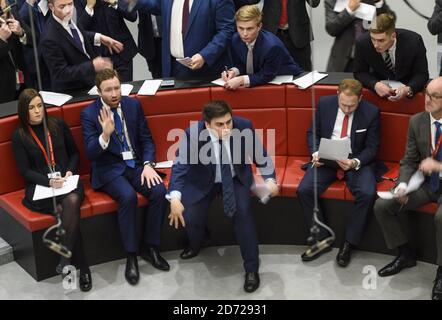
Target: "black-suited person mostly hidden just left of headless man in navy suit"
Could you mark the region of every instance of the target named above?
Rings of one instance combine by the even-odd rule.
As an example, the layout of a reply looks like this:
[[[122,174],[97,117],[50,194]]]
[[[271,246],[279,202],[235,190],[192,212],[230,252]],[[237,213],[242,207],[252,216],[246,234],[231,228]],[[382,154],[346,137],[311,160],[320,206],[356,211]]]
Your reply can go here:
[[[152,78],[161,78],[161,16],[139,11],[138,19],[138,52],[146,59]]]

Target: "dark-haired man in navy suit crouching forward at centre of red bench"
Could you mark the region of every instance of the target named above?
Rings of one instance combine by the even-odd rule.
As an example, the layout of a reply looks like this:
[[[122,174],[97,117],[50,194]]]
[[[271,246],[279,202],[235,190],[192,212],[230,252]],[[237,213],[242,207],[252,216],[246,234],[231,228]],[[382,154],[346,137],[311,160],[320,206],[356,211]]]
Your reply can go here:
[[[244,290],[253,292],[260,280],[258,239],[250,207],[251,161],[275,196],[278,187],[273,162],[262,146],[257,147],[259,138],[252,123],[232,116],[226,102],[209,102],[203,109],[203,119],[186,129],[172,167],[170,224],[175,228],[182,224],[189,238],[189,247],[181,258],[196,256],[205,235],[210,203],[222,193],[224,213],[233,219],[244,260]]]

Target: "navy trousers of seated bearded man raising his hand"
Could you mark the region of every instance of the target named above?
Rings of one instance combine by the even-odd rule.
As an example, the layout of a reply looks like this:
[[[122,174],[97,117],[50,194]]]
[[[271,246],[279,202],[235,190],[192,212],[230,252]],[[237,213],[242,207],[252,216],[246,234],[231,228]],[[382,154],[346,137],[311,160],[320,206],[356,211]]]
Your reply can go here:
[[[122,176],[105,184],[101,191],[106,192],[118,203],[118,223],[121,238],[127,252],[138,252],[139,243],[136,228],[137,192],[149,199],[147,217],[144,226],[144,243],[151,246],[160,245],[161,228],[168,207],[165,198],[164,184],[147,187],[146,182],[141,185],[143,166],[137,165],[134,169],[126,167]]]

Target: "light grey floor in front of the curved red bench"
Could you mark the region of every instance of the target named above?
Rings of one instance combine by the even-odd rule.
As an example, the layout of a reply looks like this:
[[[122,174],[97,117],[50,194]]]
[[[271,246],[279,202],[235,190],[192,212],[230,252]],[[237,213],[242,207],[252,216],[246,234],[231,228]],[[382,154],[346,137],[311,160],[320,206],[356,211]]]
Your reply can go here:
[[[375,289],[364,288],[365,268],[377,270],[393,257],[356,251],[346,269],[335,263],[334,249],[316,261],[303,263],[304,247],[261,246],[261,287],[243,291],[239,249],[207,248],[183,261],[179,251],[166,252],[171,270],[161,272],[139,260],[140,283],[124,279],[125,260],[92,267],[94,287],[88,293],[66,290],[59,277],[36,282],[15,262],[0,266],[0,299],[429,299],[436,266],[417,267],[389,278],[370,278]],[[372,266],[372,267],[367,267]],[[374,270],[374,269],[372,269]],[[367,282],[367,279],[366,281]]]

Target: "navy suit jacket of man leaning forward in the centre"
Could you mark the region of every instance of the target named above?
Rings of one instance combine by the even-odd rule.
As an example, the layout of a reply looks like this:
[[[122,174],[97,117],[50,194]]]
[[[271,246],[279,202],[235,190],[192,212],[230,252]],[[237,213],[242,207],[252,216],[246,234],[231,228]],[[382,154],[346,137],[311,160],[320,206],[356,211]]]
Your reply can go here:
[[[233,117],[233,128],[240,130],[240,132],[243,132],[242,130],[252,130],[253,133],[255,132],[251,121],[240,117]],[[190,205],[203,199],[210,192],[215,183],[215,162],[209,164],[202,163],[199,157],[193,159],[192,156],[199,155],[200,151],[202,154],[208,154],[209,157],[212,156],[210,151],[207,153],[210,149],[210,145],[207,144],[212,143],[210,136],[207,135],[207,139],[203,141],[199,141],[198,138],[203,136],[200,136],[200,134],[205,129],[206,127],[202,120],[186,129],[185,136],[182,138],[185,140],[182,140],[180,143],[180,147],[177,151],[177,159],[174,161],[172,167],[169,190],[181,192],[181,200],[185,205]],[[255,135],[253,134],[252,136],[254,137]],[[198,141],[195,141],[194,139],[197,139]],[[235,177],[237,177],[244,186],[250,188],[253,183],[252,168],[248,159],[253,159],[256,166],[260,168],[264,179],[275,178],[275,169],[271,158],[267,155],[267,152],[263,147],[262,149],[256,147],[257,145],[262,146],[259,140],[255,141],[255,138],[253,138],[253,144],[248,144],[247,148],[245,146],[245,139],[241,139],[240,148],[233,148],[232,140],[233,139],[231,138],[230,152],[232,159],[241,160],[238,161],[238,164],[233,164]],[[249,148],[249,146],[253,146],[253,148]],[[235,154],[234,150],[240,150],[241,154]],[[250,152],[253,154],[250,154]],[[260,155],[260,157],[257,157],[256,155]],[[191,159],[195,160],[196,163],[192,162]],[[264,171],[264,168],[266,168],[266,171]]]

